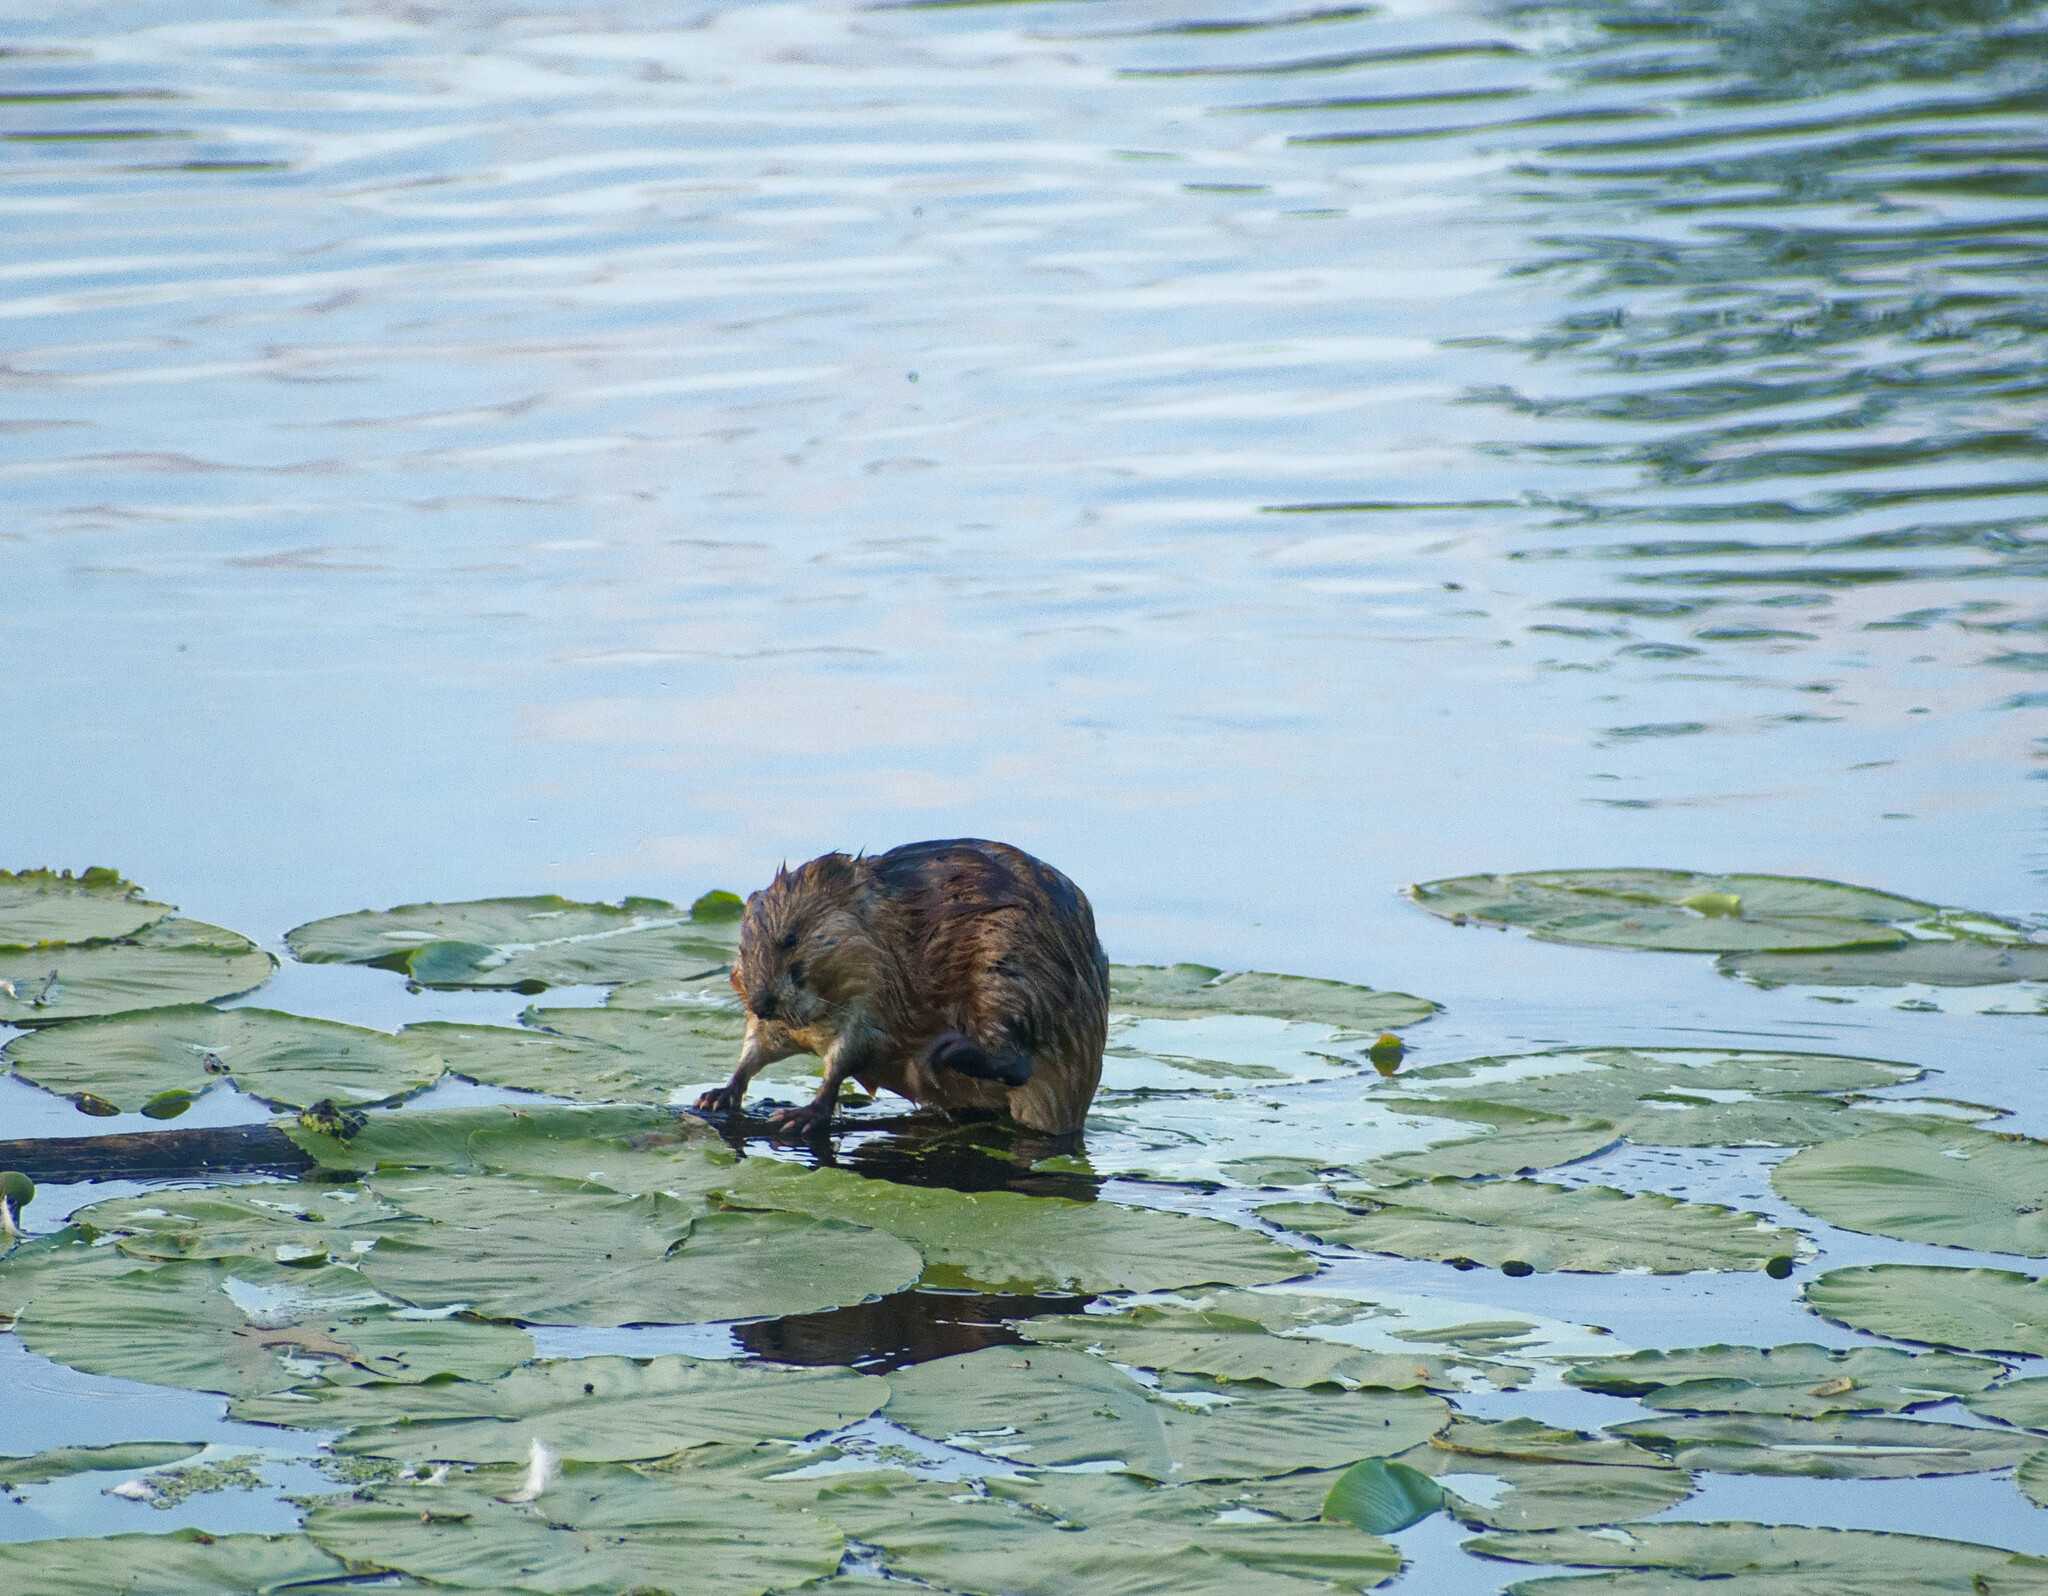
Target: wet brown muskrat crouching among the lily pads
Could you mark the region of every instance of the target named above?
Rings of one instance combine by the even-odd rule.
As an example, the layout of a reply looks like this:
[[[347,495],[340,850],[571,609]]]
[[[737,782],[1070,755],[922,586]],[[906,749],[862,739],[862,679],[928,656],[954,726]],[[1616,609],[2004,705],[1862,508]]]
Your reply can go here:
[[[739,1067],[700,1110],[735,1110],[762,1065],[817,1053],[825,1084],[776,1115],[782,1129],[821,1131],[852,1078],[1063,1135],[1102,1078],[1110,961],[1096,914],[1006,842],[784,865],[748,897],[733,990],[748,1006]]]

